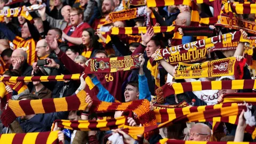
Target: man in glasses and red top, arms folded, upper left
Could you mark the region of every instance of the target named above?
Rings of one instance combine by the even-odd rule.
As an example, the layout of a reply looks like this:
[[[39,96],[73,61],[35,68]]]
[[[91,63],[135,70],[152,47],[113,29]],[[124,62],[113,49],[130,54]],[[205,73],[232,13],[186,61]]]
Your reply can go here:
[[[83,29],[90,28],[88,23],[83,22],[84,13],[80,8],[70,9],[70,23],[63,31],[62,37],[68,41],[69,46],[82,44]],[[52,39],[53,41],[53,39]]]

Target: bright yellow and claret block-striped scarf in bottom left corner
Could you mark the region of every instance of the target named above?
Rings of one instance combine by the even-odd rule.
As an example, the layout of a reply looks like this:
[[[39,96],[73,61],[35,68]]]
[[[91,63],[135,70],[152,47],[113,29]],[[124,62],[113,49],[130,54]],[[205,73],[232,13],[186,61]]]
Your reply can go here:
[[[58,132],[32,132],[32,133],[9,133],[0,134],[0,143],[52,143],[52,144],[62,144],[58,139]]]

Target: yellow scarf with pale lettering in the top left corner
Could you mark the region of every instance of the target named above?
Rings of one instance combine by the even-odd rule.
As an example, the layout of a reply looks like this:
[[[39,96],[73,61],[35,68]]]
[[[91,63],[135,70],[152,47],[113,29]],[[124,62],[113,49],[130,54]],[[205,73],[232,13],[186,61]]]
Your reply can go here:
[[[0,10],[0,17],[2,18],[18,17],[20,15],[29,21],[33,20],[33,17],[31,17],[29,12],[23,10],[23,7],[15,7],[7,10]]]

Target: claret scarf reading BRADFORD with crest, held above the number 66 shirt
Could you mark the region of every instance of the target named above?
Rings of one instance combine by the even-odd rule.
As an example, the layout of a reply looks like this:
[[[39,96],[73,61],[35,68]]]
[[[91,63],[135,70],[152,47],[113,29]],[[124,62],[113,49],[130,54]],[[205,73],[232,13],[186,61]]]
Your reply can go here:
[[[90,59],[89,65],[85,68],[85,73],[113,73],[139,68],[139,56],[137,54],[116,58],[93,58]]]

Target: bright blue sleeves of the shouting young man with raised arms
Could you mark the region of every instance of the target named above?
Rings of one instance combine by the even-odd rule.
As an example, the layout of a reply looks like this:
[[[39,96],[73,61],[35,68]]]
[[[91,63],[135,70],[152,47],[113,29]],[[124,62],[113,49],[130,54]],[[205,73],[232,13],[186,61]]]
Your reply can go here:
[[[96,85],[99,89],[99,93],[97,94],[97,98],[100,101],[107,101],[107,102],[115,102],[115,98],[113,95],[109,93],[108,90],[103,87],[97,77],[92,78],[92,83]],[[151,93],[148,88],[148,81],[145,75],[139,75],[139,99],[147,99],[151,101]]]

